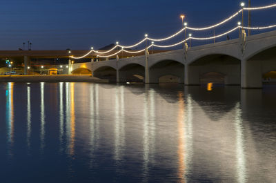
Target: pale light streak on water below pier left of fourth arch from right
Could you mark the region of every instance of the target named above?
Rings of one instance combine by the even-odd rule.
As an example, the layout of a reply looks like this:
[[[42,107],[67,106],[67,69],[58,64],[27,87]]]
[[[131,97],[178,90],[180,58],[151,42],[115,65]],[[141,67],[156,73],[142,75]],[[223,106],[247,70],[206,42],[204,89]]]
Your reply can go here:
[[[125,144],[125,106],[124,86],[116,87],[115,93],[115,160],[121,160],[121,151]]]

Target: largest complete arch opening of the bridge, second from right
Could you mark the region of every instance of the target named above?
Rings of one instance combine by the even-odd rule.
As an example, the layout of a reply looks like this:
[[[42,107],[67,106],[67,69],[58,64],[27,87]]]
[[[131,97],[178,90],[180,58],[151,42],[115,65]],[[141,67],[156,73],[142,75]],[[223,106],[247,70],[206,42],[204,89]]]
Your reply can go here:
[[[226,85],[241,84],[241,61],[238,57],[228,54],[204,54],[195,57],[186,65],[186,84],[199,85],[206,73],[224,75]],[[209,78],[210,79],[210,78]],[[211,78],[212,79],[212,78]],[[217,80],[213,78],[214,82]],[[211,81],[211,80],[210,80]]]

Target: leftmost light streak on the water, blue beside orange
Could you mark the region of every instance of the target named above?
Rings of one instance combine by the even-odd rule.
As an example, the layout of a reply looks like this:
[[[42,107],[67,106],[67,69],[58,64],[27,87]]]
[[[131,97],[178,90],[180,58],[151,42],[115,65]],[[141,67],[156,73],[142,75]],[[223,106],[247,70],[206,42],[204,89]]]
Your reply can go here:
[[[8,126],[8,144],[9,154],[11,153],[11,146],[13,144],[13,136],[14,136],[14,104],[13,104],[13,87],[14,83],[8,83],[8,89],[6,90],[6,122]]]

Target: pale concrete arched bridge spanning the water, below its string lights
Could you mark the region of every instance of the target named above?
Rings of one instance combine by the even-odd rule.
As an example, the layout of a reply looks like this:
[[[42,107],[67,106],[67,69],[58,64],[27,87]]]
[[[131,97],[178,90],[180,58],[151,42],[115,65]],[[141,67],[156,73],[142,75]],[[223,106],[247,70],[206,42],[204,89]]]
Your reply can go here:
[[[75,64],[73,70],[81,68]],[[95,77],[114,77],[126,82],[133,77],[147,84],[159,82],[165,75],[175,76],[179,83],[199,85],[207,73],[220,73],[224,84],[242,88],[262,88],[262,76],[276,70],[276,31],[215,44],[159,52],[143,56],[113,59],[86,64]]]

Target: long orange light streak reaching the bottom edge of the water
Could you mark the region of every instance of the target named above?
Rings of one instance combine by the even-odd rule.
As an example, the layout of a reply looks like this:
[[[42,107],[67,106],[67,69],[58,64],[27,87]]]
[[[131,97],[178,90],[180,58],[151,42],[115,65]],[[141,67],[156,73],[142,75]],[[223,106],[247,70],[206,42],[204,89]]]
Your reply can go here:
[[[178,110],[178,117],[177,117],[177,123],[178,123],[178,133],[179,133],[179,139],[178,139],[178,164],[179,164],[179,170],[178,170],[178,177],[180,182],[186,182],[185,180],[185,126],[184,126],[184,96],[183,93],[178,93],[179,97],[179,110]]]

